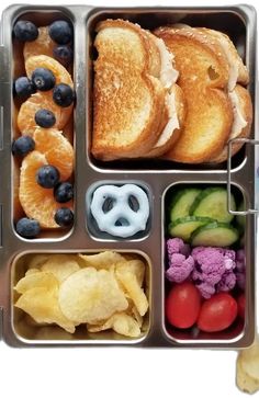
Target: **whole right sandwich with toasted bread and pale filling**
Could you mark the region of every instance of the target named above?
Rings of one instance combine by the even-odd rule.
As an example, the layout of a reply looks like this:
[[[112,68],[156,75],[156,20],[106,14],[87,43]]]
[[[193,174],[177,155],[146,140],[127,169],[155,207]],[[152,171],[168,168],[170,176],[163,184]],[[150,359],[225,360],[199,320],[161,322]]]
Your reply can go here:
[[[234,44],[205,27],[174,25],[155,34],[176,57],[188,109],[181,138],[165,157],[187,163],[225,161],[228,140],[248,137],[252,120],[250,95],[240,86],[248,84],[249,75]],[[241,146],[233,144],[232,155]]]

